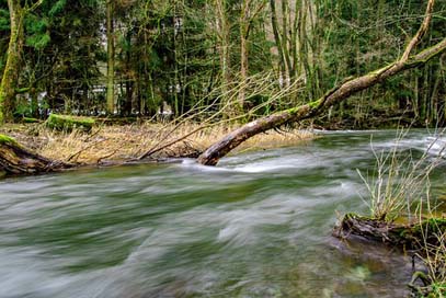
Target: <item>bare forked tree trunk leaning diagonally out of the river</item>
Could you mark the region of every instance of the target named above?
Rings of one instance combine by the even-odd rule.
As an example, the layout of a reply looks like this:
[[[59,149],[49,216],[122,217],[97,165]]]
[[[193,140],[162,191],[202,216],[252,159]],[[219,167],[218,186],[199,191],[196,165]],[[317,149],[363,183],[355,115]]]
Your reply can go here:
[[[343,83],[327,92],[319,100],[312,101],[305,105],[300,105],[298,107],[277,112],[267,117],[248,123],[209,147],[203,154],[198,157],[197,161],[205,165],[216,165],[220,158],[225,157],[233,148],[239,146],[244,140],[251,138],[252,136],[264,133],[272,128],[279,127],[286,123],[299,122],[320,115],[330,106],[342,102],[343,100],[350,98],[352,94],[380,83],[403,70],[424,66],[428,60],[444,53],[446,50],[446,38],[438,44],[426,48],[416,55],[411,56],[413,48],[420,43],[421,38],[424,36],[428,28],[428,24],[432,19],[434,2],[434,0],[428,1],[424,21],[420,26],[419,32],[408,44],[403,55],[399,60],[381,69],[371,71],[365,76],[346,79]]]

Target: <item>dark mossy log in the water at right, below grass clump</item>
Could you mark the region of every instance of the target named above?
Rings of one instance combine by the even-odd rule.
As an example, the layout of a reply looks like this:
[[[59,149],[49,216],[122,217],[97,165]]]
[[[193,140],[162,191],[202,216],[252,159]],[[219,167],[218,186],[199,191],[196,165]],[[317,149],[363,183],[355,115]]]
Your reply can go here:
[[[437,247],[438,234],[445,231],[446,219],[431,218],[416,224],[399,225],[347,214],[335,227],[333,234],[340,238],[358,236],[404,250],[420,250],[426,244]]]

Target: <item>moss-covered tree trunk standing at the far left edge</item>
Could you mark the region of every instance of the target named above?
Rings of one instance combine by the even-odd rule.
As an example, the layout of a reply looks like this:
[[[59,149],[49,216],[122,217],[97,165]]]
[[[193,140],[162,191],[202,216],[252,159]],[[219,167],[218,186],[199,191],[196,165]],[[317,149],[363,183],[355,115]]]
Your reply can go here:
[[[12,121],[15,90],[18,89],[20,56],[23,48],[24,11],[19,0],[8,0],[11,20],[11,36],[8,58],[0,83],[0,123]]]

